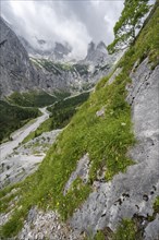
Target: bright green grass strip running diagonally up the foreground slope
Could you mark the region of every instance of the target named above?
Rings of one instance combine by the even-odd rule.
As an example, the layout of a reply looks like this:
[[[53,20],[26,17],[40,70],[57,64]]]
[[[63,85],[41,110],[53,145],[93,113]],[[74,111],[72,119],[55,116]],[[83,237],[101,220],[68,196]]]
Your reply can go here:
[[[129,147],[134,144],[134,136],[131,108],[125,101],[125,86],[130,82],[130,72],[138,59],[142,61],[148,56],[152,68],[158,64],[158,17],[159,9],[156,8],[134,46],[120,61],[119,64],[123,69],[115,81],[108,85],[108,76],[99,82],[96,91],[80,107],[69,127],[50,148],[37,172],[21,184],[12,187],[19,187],[17,194],[21,194],[21,199],[12,218],[2,228],[1,233],[4,238],[17,233],[28,209],[34,205],[58,209],[62,218],[66,219],[88,196],[91,182],[97,178],[97,170],[106,166],[105,176],[108,181],[132,164],[126,156]],[[101,108],[105,109],[105,113],[97,117],[96,112]],[[88,183],[84,184],[81,179],[76,179],[71,190],[63,196],[63,189],[70,175],[76,168],[77,160],[86,153],[89,154],[91,161]],[[10,190],[11,188],[3,190],[1,196]],[[8,202],[11,201],[9,197],[11,199],[5,196],[4,203],[2,202],[3,211],[9,209]],[[127,224],[127,230],[130,225]]]

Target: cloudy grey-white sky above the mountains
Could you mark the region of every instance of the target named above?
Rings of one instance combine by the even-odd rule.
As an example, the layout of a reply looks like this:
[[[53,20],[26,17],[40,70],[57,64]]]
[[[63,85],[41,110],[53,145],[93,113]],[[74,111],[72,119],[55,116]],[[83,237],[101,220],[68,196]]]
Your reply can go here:
[[[69,43],[73,57],[86,56],[88,43],[113,40],[122,0],[1,0],[1,15],[34,47],[37,39]]]

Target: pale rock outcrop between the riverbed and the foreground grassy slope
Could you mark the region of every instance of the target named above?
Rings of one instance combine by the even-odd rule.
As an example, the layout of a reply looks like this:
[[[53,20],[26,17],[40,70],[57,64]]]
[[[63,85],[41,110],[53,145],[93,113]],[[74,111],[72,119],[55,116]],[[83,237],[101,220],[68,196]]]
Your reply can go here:
[[[10,155],[2,158],[0,164],[0,189],[22,181],[35,172],[38,165],[45,158],[46,152],[53,144],[61,131],[53,130],[42,133],[26,144],[20,144]]]

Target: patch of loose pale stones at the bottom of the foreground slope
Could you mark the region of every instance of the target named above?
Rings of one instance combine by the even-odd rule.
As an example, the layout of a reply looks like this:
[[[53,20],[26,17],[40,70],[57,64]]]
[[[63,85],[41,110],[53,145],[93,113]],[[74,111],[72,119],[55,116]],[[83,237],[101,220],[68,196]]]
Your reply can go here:
[[[62,223],[56,212],[42,212],[34,207],[28,213],[19,239],[81,240],[82,236],[76,235],[69,225]]]

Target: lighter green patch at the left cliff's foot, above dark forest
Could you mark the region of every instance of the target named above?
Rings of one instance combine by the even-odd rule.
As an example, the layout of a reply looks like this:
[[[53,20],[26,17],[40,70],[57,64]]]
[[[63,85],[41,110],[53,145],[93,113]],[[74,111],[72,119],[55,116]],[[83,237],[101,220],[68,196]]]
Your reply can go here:
[[[45,107],[53,104],[57,100],[57,96],[51,96],[46,92],[14,92],[8,97],[8,101],[14,105],[23,107]]]

